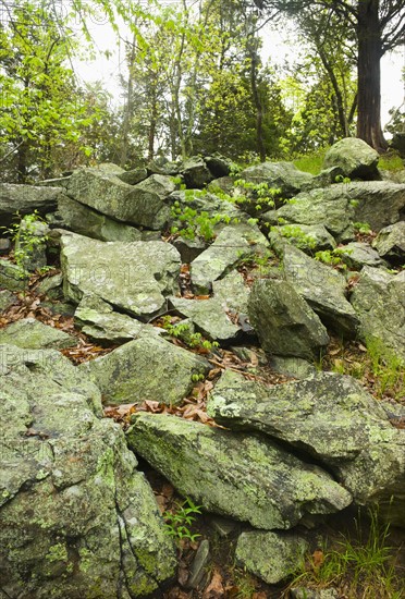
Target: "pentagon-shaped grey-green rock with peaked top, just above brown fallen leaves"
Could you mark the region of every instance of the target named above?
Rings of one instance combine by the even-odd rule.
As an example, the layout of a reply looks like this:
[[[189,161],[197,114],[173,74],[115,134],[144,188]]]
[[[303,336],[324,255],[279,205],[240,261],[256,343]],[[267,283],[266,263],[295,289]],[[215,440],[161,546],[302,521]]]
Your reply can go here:
[[[78,368],[98,386],[109,405],[145,400],[176,405],[195,386],[193,376],[207,375],[210,365],[200,356],[146,331]]]

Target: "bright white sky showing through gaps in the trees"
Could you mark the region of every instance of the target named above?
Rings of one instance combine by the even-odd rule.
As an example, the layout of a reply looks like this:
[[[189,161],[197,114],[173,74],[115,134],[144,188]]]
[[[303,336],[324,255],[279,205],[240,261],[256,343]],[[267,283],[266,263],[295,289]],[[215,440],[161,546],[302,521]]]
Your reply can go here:
[[[90,24],[90,33],[94,36],[96,47],[100,51],[96,61],[75,62],[75,72],[82,81],[102,81],[107,90],[112,94],[113,102],[120,103],[120,86],[118,75],[126,75],[123,45],[118,44],[115,34],[102,15],[98,22]],[[263,49],[262,60],[270,59],[273,65],[282,64],[285,59],[294,62],[296,53],[287,44],[291,32],[277,32],[270,27],[262,29]],[[102,54],[106,50],[112,52],[109,60]],[[397,48],[394,52],[385,54],[381,60],[381,121],[384,126],[389,120],[389,110],[405,107],[405,83],[402,81],[402,69],[405,68],[405,47]]]

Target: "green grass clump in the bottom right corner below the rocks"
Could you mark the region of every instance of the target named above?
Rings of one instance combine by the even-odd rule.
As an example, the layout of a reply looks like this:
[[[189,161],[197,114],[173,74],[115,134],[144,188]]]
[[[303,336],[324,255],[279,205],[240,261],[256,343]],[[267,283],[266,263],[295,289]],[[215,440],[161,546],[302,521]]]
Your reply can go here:
[[[339,597],[361,599],[400,599],[401,580],[395,573],[395,551],[388,543],[390,526],[381,525],[378,512],[369,511],[369,522],[361,513],[355,519],[354,535],[341,535],[331,549],[308,557],[304,571],[292,587],[322,589],[333,587]],[[367,533],[365,534],[365,530]]]

